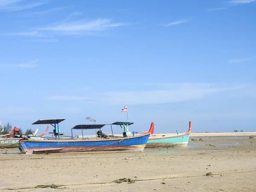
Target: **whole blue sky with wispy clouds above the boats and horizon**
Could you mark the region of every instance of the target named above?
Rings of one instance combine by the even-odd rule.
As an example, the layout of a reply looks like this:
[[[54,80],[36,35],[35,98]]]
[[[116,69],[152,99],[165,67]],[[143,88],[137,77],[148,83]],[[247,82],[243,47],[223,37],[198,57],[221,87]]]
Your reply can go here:
[[[255,10],[256,0],[0,0],[2,126],[43,133],[32,123],[65,118],[70,134],[87,116],[127,121],[128,105],[130,131],[256,131]]]

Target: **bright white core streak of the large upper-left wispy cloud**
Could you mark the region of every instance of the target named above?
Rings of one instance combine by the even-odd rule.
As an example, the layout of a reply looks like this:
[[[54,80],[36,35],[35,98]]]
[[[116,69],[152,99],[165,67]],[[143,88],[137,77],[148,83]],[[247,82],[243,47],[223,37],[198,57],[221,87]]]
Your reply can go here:
[[[41,31],[59,32],[61,34],[84,34],[86,32],[96,32],[111,29],[119,26],[129,25],[130,23],[113,23],[111,19],[79,20],[55,24],[47,27],[38,28]]]

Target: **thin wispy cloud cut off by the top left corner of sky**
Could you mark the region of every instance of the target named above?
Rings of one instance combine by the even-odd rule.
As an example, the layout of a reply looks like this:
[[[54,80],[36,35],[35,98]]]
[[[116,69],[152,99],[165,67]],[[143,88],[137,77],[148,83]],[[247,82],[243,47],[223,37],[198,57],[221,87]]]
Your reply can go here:
[[[44,5],[44,1],[31,1],[26,3],[25,0],[1,0],[0,11],[12,12],[21,11],[24,9],[32,9],[41,5]]]

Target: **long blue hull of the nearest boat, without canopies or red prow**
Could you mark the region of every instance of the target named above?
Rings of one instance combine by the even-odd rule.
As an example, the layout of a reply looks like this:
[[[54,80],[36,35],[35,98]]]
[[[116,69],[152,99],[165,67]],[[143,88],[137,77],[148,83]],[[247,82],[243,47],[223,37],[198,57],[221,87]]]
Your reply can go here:
[[[102,140],[20,140],[26,154],[86,151],[143,151],[150,133],[135,137]]]

